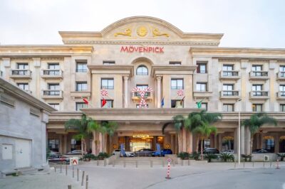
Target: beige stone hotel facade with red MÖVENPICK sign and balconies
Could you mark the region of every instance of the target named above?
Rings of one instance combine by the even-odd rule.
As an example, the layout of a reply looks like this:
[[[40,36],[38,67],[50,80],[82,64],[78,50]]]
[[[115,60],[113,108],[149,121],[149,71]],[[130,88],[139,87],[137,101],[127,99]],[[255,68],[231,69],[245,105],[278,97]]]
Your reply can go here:
[[[112,139],[99,134],[90,139],[93,151],[96,141],[99,151],[109,153],[121,143],[130,151],[155,149],[156,143],[175,153],[196,151],[195,134],[177,134],[171,124],[162,134],[162,126],[177,114],[198,111],[196,102],[203,99],[202,108],[223,114],[215,124],[217,136],[204,141],[206,147],[237,153],[237,112],[243,120],[262,111],[278,119],[278,126],[262,127],[254,148],[285,151],[285,49],[221,48],[223,34],[184,33],[145,16],[122,19],[100,32],[59,33],[63,45],[0,45],[1,77],[58,109],[48,123],[51,148],[63,153],[80,148],[64,122],[83,112],[119,124]],[[137,108],[135,87],[152,89],[145,97],[147,108]],[[101,107],[103,88],[110,108]],[[241,139],[242,153],[249,153],[244,127]]]

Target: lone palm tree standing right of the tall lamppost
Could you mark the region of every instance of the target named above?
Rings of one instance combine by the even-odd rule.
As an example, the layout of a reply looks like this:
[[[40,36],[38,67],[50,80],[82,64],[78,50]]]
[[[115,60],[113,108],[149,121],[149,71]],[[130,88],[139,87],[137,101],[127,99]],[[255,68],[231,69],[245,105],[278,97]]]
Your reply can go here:
[[[252,114],[252,116],[249,119],[245,119],[244,121],[242,121],[242,125],[248,126],[251,134],[250,153],[252,153],[254,134],[256,134],[259,128],[264,124],[273,124],[274,126],[277,126],[277,121],[276,119],[274,119],[273,117],[269,117],[265,113]]]

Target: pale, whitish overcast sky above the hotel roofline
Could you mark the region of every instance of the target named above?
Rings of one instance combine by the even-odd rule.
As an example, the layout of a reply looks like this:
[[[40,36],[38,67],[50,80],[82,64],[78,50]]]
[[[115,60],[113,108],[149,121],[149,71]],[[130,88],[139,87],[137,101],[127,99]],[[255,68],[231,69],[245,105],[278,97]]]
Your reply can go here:
[[[284,8],[284,0],[0,0],[0,43],[61,45],[58,31],[153,16],[186,33],[224,33],[221,47],[285,48]]]

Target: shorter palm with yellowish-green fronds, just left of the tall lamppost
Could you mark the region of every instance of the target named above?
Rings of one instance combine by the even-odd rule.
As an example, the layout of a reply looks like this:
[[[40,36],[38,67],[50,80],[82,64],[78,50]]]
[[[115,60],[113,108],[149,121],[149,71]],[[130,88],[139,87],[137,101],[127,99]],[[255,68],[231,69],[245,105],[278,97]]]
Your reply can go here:
[[[197,126],[192,130],[193,133],[197,134],[197,143],[201,139],[201,159],[203,160],[203,139],[207,139],[211,134],[217,134],[217,127],[210,126],[209,123],[204,122],[202,125]]]

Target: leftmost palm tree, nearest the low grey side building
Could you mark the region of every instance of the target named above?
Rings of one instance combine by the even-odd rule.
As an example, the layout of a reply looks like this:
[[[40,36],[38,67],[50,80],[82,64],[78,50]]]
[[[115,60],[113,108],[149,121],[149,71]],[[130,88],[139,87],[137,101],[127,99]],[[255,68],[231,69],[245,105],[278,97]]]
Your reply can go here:
[[[78,131],[78,134],[73,136],[76,140],[81,140],[81,153],[86,151],[86,138],[90,136],[88,132],[88,123],[91,121],[90,118],[86,117],[86,114],[82,114],[81,119],[69,119],[64,124],[66,130],[74,129]]]

